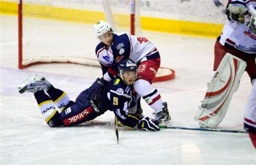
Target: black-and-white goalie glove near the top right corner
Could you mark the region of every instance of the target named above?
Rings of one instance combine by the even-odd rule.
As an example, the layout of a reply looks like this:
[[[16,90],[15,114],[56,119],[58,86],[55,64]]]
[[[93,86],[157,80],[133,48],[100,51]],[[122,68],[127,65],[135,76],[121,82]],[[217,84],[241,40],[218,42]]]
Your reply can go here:
[[[228,16],[229,20],[236,20],[239,23],[244,23],[244,17],[248,13],[248,9],[243,6],[236,6],[229,4],[225,10],[225,14]]]

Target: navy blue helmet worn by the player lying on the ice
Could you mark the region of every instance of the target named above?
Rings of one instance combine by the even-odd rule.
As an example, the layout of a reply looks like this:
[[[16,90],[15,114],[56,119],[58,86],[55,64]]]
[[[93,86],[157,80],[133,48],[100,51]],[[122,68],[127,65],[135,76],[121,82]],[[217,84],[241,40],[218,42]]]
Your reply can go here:
[[[137,75],[137,65],[136,63],[131,59],[123,59],[118,64],[118,75],[123,80],[123,72],[124,71],[134,71],[135,72],[135,78]],[[134,80],[135,80],[134,78]]]

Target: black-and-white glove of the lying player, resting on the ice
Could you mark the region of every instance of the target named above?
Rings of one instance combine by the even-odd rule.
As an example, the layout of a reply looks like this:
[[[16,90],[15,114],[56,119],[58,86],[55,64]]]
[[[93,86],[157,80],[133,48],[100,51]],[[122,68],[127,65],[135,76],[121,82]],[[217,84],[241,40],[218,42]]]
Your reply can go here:
[[[146,131],[159,131],[160,128],[157,126],[157,123],[155,123],[152,119],[149,117],[143,117],[139,121],[138,129],[143,129]]]

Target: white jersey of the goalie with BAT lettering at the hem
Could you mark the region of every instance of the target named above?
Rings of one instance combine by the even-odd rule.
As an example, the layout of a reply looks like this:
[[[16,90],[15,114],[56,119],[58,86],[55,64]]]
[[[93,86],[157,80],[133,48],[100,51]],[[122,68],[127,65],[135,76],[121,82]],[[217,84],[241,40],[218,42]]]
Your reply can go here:
[[[254,9],[256,8],[256,0],[231,0],[229,3],[248,9],[250,5],[252,5]],[[256,34],[250,31],[246,23],[228,21],[222,30],[220,43],[222,45],[226,43],[248,54],[256,54]]]

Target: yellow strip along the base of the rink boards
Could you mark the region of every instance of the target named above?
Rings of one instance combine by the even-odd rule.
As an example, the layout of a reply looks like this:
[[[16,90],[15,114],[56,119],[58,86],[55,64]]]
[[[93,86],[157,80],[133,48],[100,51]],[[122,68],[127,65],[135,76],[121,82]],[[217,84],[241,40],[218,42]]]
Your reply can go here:
[[[33,8],[41,8],[39,5],[32,5]],[[80,12],[86,12],[90,14],[94,12],[98,15],[102,15],[104,13],[97,11],[89,11],[89,10],[78,10],[78,9],[68,9],[68,8],[55,8],[51,6],[44,6],[48,8],[47,11],[51,11],[51,13],[42,15],[40,18],[49,18],[49,19],[58,19],[63,21],[74,21],[72,17],[75,14],[79,14]],[[17,15],[17,2],[7,2],[0,1],[0,14],[8,14],[8,15]],[[49,10],[50,9],[50,10]],[[64,15],[63,15],[64,14]],[[123,15],[117,15],[122,19]],[[98,20],[97,18],[90,19],[90,21],[77,20],[78,22],[83,23],[95,23]],[[164,32],[164,33],[175,33],[175,34],[185,34],[185,35],[193,35],[193,36],[202,36],[202,37],[217,37],[220,35],[221,30],[223,28],[222,24],[215,23],[204,23],[204,22],[194,22],[194,21],[184,21],[184,20],[174,20],[174,19],[163,19],[163,18],[155,18],[155,17],[146,17],[141,16],[141,26],[142,30],[148,31],[156,31],[156,32]]]

